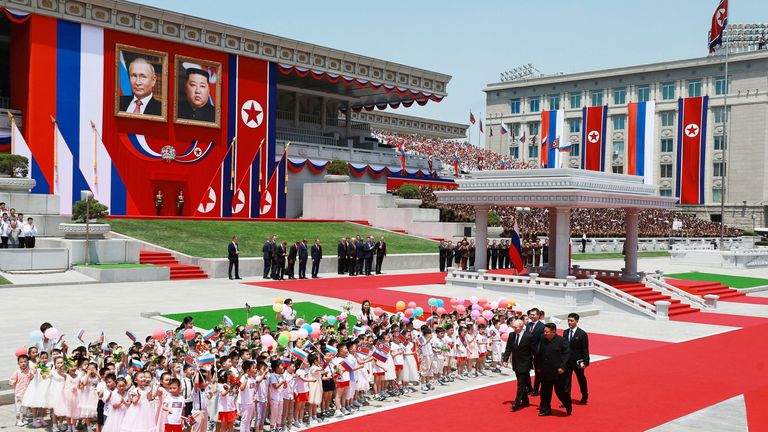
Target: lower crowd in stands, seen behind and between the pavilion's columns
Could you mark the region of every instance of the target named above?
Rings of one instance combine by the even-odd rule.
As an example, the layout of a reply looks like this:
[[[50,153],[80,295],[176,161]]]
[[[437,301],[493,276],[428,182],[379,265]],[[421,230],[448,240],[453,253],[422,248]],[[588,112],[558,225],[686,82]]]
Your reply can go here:
[[[429,208],[441,210],[443,222],[473,222],[475,211],[472,206],[438,204],[434,190],[428,187],[421,188],[423,205]],[[505,231],[511,231],[517,219],[520,229],[527,234],[546,235],[548,232],[549,216],[545,208],[532,208],[530,213],[517,213],[514,207],[493,206]],[[679,221],[681,228],[673,229],[675,221]],[[720,224],[710,222],[695,215],[675,212],[670,210],[643,210],[640,212],[640,236],[641,237],[717,237],[720,235]],[[571,235],[588,237],[623,237],[624,209],[614,208],[577,208],[571,210]],[[742,231],[737,228],[726,227],[726,236],[738,236]]]

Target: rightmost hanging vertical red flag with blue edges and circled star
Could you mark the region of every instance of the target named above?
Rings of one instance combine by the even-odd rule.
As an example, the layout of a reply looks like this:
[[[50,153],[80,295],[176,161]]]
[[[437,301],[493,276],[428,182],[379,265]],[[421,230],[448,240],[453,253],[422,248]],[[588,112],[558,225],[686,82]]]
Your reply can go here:
[[[678,100],[675,192],[680,204],[704,204],[708,102],[708,96]]]

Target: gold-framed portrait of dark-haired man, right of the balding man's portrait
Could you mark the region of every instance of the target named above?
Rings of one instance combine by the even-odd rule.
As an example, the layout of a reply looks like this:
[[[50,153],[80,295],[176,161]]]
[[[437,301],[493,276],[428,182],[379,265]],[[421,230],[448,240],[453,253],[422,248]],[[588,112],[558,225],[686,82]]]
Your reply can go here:
[[[173,64],[173,121],[220,128],[221,63],[177,55]]]

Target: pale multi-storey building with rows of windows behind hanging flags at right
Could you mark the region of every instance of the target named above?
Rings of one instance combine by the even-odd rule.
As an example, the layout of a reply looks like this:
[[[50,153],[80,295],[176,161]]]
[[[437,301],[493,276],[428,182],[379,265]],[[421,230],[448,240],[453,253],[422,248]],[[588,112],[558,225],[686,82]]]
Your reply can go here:
[[[573,143],[565,166],[578,167],[583,148],[582,107],[607,105],[605,166],[624,173],[627,104],[655,100],[655,184],[659,195],[674,196],[678,99],[706,95],[705,204],[685,206],[684,211],[720,220],[721,170],[725,169],[725,222],[747,229],[764,226],[768,217],[768,51],[732,54],[730,83],[725,82],[724,66],[724,57],[713,56],[488,84],[486,124],[494,134],[486,136],[486,147],[502,155],[538,161],[541,112],[563,109],[563,139]],[[726,92],[728,142],[723,128]],[[510,134],[497,133],[500,122]],[[525,144],[520,142],[523,133]]]

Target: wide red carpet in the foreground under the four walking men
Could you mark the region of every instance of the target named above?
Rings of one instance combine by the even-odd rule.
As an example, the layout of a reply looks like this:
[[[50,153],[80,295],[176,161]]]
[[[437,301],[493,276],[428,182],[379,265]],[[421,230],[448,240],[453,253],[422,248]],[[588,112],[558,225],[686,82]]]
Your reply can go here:
[[[708,314],[695,314],[708,315]],[[622,430],[644,431],[723,400],[747,394],[765,400],[768,344],[759,343],[768,324],[694,341],[668,344],[590,366],[590,404],[576,405],[570,418],[552,402],[554,415],[537,416],[538,398],[517,413],[509,411],[516,383],[505,383],[457,395],[318,427],[318,431],[391,431],[400,425],[424,425],[430,430]],[[747,354],[744,349],[749,347]],[[738,365],[723,365],[723,353],[738,355]],[[578,386],[577,386],[578,387]],[[757,392],[757,393],[754,393]],[[578,397],[578,391],[576,391]],[[765,405],[752,411],[762,422]],[[432,413],[428,419],[425,413]],[[763,423],[759,423],[763,424]],[[505,426],[502,426],[505,425]],[[617,427],[617,425],[620,425]],[[750,425],[751,426],[751,425]],[[511,427],[510,429],[511,430]],[[751,430],[766,430],[751,428]]]

